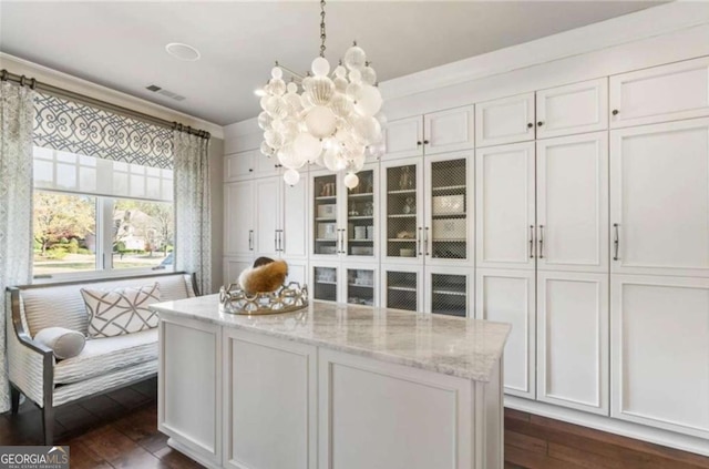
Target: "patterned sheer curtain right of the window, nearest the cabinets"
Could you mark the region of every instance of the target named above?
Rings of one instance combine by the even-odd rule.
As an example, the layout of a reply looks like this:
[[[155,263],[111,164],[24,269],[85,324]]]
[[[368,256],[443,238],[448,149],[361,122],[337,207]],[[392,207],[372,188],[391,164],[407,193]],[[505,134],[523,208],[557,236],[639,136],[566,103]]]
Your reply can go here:
[[[209,140],[174,132],[175,268],[194,272],[201,294],[212,293]]]

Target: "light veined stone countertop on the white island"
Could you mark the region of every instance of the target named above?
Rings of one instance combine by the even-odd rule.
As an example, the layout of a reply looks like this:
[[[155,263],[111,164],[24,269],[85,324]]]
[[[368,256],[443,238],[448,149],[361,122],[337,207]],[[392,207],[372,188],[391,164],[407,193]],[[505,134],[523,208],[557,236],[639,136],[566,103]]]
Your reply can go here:
[[[294,313],[234,315],[219,310],[218,295],[151,308],[476,381],[490,381],[512,328],[504,323],[323,302],[310,302],[307,309]]]

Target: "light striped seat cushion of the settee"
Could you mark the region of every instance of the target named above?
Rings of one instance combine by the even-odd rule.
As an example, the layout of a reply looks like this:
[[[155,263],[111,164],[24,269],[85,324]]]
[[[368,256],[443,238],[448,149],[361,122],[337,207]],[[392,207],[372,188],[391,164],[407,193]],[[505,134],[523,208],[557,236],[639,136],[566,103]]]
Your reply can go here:
[[[83,381],[157,359],[157,329],[86,340],[81,354],[54,366],[54,384]]]

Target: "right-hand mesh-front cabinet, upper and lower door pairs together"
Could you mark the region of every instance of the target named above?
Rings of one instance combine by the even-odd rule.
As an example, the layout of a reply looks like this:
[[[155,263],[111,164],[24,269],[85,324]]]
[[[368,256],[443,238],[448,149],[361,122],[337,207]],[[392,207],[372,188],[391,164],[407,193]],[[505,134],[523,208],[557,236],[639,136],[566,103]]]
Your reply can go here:
[[[461,151],[381,164],[382,305],[455,316],[472,310],[471,156]]]

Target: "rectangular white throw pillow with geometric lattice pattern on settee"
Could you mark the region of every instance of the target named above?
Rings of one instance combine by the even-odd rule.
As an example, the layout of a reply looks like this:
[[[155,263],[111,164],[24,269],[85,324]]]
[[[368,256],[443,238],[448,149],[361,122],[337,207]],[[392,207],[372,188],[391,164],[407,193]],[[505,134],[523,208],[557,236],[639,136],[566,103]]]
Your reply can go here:
[[[160,285],[111,290],[82,288],[89,313],[91,337],[115,337],[157,327],[157,313],[148,309],[160,303]]]

